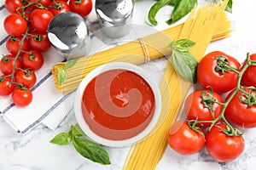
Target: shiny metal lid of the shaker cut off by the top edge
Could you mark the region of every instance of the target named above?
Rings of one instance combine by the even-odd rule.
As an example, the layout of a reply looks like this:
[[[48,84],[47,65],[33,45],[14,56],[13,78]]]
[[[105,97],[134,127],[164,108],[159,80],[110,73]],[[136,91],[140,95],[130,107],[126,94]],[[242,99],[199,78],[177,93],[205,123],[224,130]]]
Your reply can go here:
[[[113,25],[130,20],[133,8],[133,0],[96,0],[96,14]]]

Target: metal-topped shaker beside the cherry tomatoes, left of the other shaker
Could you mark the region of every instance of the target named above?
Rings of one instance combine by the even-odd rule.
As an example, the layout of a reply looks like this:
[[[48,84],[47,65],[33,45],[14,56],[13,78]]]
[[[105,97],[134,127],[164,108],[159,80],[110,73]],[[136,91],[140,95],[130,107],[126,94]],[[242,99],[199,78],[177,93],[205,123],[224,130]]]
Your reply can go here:
[[[89,31],[83,17],[73,12],[55,15],[48,27],[52,46],[68,59],[83,57],[89,52]]]

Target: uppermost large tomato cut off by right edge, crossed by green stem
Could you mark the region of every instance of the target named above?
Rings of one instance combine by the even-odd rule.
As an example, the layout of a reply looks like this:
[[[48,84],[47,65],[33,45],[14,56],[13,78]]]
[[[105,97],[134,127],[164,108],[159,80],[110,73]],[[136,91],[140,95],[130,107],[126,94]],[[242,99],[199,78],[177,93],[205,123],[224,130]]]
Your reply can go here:
[[[250,59],[256,61],[256,54],[251,54]],[[241,85],[256,88],[256,66],[250,65],[241,77]]]

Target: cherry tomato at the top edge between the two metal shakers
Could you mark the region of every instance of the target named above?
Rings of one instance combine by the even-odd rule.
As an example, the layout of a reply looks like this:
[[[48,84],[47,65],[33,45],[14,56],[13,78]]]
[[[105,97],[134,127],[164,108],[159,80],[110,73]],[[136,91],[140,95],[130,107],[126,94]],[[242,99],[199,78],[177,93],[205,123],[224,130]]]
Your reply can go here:
[[[91,0],[70,0],[69,8],[72,12],[80,14],[82,17],[90,14],[92,9],[92,1]]]

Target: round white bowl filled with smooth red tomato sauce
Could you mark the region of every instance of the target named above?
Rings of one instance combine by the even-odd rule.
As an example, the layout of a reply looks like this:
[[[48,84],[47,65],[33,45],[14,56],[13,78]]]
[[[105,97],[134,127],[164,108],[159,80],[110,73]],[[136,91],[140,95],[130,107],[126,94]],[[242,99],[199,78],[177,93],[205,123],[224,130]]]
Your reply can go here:
[[[123,146],[152,131],[160,116],[160,91],[146,75],[137,65],[115,62],[84,77],[74,108],[79,126],[90,139]]]

